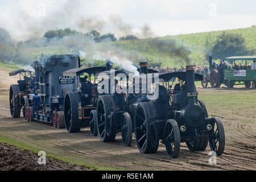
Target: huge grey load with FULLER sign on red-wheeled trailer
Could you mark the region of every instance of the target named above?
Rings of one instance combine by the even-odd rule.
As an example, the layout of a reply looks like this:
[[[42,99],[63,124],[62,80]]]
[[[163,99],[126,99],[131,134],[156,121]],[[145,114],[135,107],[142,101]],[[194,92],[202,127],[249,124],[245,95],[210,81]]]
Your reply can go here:
[[[54,127],[63,128],[64,96],[75,90],[75,77],[63,76],[68,69],[80,67],[80,58],[76,55],[51,55],[40,57],[34,62],[36,84],[39,92],[28,94],[27,121],[53,123]]]

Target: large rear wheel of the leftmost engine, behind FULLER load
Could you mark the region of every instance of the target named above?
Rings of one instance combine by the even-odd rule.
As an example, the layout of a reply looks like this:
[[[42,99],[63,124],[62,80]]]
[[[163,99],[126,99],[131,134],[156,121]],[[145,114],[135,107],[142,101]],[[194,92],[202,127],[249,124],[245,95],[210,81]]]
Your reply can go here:
[[[15,96],[19,95],[19,92],[20,92],[19,85],[11,85],[9,100],[10,100],[11,117],[13,117],[13,118],[20,117],[19,101],[16,100],[16,98],[15,98]]]

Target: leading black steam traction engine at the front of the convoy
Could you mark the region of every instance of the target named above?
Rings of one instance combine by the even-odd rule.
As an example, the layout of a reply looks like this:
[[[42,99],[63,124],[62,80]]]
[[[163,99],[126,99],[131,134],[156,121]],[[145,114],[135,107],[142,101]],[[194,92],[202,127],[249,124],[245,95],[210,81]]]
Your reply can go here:
[[[140,152],[157,151],[159,139],[171,158],[178,156],[180,142],[196,151],[205,150],[209,141],[210,149],[217,155],[224,152],[225,134],[220,118],[208,118],[204,102],[197,100],[195,78],[203,80],[203,76],[195,74],[193,66],[186,69],[186,72],[159,73],[163,85],[159,84],[156,91],[158,98],[134,104],[135,136]],[[174,77],[181,82],[171,89],[167,83]]]

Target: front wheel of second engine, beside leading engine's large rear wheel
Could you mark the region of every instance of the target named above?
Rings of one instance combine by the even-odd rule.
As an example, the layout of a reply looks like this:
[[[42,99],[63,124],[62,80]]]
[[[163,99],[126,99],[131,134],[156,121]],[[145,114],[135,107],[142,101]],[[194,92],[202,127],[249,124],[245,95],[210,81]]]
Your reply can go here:
[[[133,123],[129,113],[123,113],[121,124],[122,140],[125,146],[131,146],[133,140]]]

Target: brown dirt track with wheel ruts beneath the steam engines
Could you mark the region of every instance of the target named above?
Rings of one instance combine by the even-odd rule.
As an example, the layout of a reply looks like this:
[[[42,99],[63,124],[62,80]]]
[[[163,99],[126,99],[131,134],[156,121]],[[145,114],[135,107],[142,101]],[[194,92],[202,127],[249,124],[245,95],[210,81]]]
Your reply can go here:
[[[13,119],[10,117],[7,86],[16,80],[11,79],[6,83],[7,72],[0,72],[0,135],[44,150],[46,154],[49,152],[95,166],[119,169],[256,170],[256,101],[254,111],[250,111],[248,115],[236,113],[232,117],[221,108],[216,114],[215,108],[206,103],[209,114],[221,117],[226,135],[224,154],[217,157],[217,165],[210,165],[209,146],[205,151],[191,152],[185,144],[181,144],[179,157],[170,159],[162,143],[155,154],[140,154],[135,137],[132,146],[125,147],[121,135],[113,143],[102,143],[98,137],[90,135],[89,129],[82,129],[80,133],[67,133],[65,129],[57,130],[46,123],[26,122],[23,118]],[[5,84],[2,80],[5,80]],[[208,89],[198,91],[202,94],[209,92]],[[255,90],[245,90],[243,93],[247,92],[256,93]]]

